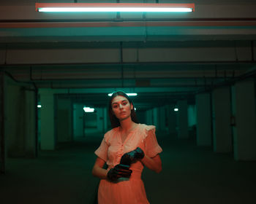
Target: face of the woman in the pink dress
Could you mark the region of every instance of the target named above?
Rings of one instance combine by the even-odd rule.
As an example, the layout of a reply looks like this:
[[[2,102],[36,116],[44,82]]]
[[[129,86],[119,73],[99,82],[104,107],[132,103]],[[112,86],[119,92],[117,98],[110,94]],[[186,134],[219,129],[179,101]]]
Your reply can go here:
[[[113,114],[117,117],[117,119],[124,120],[130,117],[131,110],[133,109],[133,106],[127,98],[125,98],[122,95],[117,95],[115,98],[113,98],[112,103],[112,111]]]

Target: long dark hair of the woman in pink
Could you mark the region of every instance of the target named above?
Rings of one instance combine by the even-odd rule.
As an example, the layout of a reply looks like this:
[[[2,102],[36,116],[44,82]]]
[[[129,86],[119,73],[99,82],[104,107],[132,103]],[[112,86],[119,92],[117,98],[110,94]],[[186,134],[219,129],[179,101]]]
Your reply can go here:
[[[129,98],[129,96],[126,93],[124,93],[121,90],[118,90],[110,96],[109,103],[108,103],[108,115],[110,117],[111,127],[114,128],[114,127],[120,126],[119,119],[115,116],[115,114],[113,113],[113,110],[112,110],[113,98],[115,98],[118,95],[124,96],[124,98],[127,98],[129,103],[131,105],[133,105],[133,109],[131,110],[131,118],[132,118],[133,122],[138,123],[138,119],[137,119],[137,116],[135,113],[135,106],[134,106],[132,100]]]

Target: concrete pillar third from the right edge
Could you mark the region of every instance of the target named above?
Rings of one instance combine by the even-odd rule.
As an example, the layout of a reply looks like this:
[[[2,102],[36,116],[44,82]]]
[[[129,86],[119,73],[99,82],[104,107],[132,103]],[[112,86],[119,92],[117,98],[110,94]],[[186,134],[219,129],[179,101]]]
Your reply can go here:
[[[211,101],[210,94],[195,96],[197,109],[197,145],[211,146]]]

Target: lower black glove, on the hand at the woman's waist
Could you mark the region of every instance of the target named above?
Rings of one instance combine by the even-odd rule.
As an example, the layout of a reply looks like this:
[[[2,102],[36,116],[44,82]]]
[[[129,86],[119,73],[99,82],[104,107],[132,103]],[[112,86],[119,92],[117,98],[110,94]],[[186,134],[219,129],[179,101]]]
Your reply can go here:
[[[132,174],[132,170],[126,165],[116,165],[108,171],[107,177],[110,181],[115,182],[118,178],[129,178]]]

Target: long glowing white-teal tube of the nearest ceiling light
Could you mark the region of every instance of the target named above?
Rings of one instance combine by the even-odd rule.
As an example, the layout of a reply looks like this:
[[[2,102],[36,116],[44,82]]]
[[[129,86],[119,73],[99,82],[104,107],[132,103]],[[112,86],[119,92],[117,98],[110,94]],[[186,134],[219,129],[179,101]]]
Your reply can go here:
[[[192,8],[157,7],[45,7],[39,12],[192,12]]]

